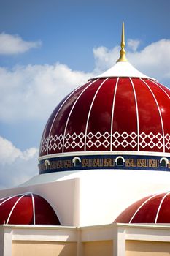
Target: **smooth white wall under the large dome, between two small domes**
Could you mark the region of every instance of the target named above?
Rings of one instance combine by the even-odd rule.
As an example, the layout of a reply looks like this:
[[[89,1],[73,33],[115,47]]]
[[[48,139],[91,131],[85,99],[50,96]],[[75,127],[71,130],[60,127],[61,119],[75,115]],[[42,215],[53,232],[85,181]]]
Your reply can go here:
[[[0,191],[0,197],[34,192],[51,204],[61,225],[112,223],[131,203],[167,192],[170,173],[144,170],[83,170],[35,176],[26,184]]]

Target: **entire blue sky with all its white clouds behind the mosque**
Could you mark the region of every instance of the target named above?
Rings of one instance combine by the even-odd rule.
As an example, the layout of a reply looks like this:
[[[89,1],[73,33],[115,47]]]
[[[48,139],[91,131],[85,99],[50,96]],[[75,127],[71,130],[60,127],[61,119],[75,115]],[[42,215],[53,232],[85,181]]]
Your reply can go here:
[[[0,1],[0,187],[38,173],[48,116],[118,59],[123,21],[131,64],[170,86],[169,10],[169,0]]]

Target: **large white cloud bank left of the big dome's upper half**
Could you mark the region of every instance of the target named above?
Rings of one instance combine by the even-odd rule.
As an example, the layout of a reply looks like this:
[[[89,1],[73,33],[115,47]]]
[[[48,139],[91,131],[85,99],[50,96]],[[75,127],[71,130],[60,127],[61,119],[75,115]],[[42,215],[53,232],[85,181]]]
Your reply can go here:
[[[47,120],[58,102],[90,76],[59,63],[0,68],[0,120]]]

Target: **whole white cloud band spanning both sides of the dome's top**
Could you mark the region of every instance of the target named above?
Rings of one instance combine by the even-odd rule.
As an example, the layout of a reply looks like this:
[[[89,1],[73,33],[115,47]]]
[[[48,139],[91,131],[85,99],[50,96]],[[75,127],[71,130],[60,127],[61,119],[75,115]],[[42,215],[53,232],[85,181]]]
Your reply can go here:
[[[120,47],[94,48],[95,69],[91,73],[63,64],[0,68],[0,121],[46,121],[56,105],[88,78],[115,64]],[[154,42],[141,51],[128,51],[127,58],[139,71],[160,82],[170,78],[170,40]]]

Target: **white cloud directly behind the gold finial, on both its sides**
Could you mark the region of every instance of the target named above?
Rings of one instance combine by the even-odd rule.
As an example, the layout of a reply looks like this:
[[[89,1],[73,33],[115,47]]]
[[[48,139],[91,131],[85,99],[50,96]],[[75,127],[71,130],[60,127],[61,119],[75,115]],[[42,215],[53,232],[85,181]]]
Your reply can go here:
[[[115,61],[119,58],[119,50],[120,47],[117,46],[110,50],[103,46],[94,48],[96,72],[104,72],[104,70],[112,67],[112,64],[115,64]],[[144,72],[144,74],[156,78],[160,82],[170,78],[169,39],[153,42],[141,51],[126,50],[126,56],[128,61],[139,69],[140,72]]]

